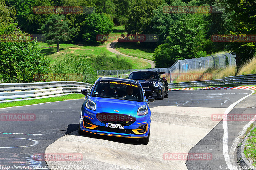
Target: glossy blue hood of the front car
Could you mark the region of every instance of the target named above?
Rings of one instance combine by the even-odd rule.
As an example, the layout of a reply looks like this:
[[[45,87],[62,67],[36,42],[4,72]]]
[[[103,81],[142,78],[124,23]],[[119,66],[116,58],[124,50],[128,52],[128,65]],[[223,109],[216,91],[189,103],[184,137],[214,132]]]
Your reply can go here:
[[[111,99],[111,98],[99,98],[92,97],[90,99],[95,101],[96,107],[100,107],[104,109],[105,112],[116,112],[116,113],[136,113],[138,108],[141,106],[145,106],[146,104],[138,101],[130,101],[130,100],[119,100],[119,99]]]

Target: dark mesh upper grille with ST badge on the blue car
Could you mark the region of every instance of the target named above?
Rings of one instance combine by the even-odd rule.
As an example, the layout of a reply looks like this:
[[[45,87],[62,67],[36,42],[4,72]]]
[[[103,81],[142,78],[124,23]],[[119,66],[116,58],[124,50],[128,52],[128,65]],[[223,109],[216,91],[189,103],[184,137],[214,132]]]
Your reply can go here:
[[[129,126],[136,121],[133,116],[116,113],[98,113],[96,117],[101,123],[114,123],[125,126]]]

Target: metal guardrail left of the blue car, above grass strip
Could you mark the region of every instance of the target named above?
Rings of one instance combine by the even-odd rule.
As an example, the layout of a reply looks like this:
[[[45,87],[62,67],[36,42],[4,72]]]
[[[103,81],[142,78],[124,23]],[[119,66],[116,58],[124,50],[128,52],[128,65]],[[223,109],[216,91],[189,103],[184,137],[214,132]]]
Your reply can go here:
[[[91,88],[89,83],[76,81],[1,83],[0,103],[56,97]]]

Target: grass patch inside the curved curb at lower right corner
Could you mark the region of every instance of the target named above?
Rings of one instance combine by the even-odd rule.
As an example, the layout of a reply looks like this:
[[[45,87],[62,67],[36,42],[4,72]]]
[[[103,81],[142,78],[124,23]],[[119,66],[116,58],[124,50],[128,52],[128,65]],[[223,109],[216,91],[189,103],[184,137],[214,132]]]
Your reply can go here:
[[[251,134],[247,138],[244,154],[247,159],[253,159],[250,163],[256,166],[256,128],[251,130]]]

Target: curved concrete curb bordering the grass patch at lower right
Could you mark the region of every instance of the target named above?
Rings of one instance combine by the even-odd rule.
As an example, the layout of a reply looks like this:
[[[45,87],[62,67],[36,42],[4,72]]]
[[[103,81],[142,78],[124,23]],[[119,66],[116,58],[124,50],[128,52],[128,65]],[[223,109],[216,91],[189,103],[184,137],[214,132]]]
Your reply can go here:
[[[255,128],[256,125],[253,127]],[[253,129],[252,128],[252,129]],[[256,166],[253,166],[248,159],[244,155],[244,146],[247,141],[247,137],[251,134],[251,131],[244,137],[244,140],[242,141],[242,144],[238,147],[236,151],[236,158],[238,160],[238,164],[242,167],[245,167],[244,170],[256,170]],[[252,167],[252,168],[251,168]]]

